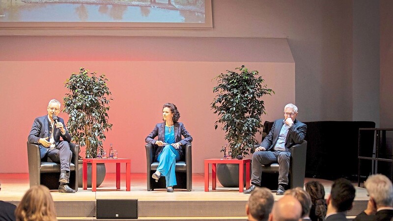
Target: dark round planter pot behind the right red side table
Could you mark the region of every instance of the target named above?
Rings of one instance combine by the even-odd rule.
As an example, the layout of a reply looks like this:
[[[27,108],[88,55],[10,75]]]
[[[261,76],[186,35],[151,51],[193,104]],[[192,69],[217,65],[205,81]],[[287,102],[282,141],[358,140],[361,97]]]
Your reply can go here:
[[[244,167],[243,174],[246,174],[246,166]],[[217,164],[217,179],[223,187],[239,187],[239,165]],[[245,187],[246,176],[244,177],[243,183]]]

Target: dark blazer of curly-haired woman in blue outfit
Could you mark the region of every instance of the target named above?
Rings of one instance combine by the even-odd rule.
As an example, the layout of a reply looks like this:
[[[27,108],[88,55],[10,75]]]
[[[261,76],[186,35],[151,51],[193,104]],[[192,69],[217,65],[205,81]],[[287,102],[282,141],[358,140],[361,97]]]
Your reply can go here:
[[[188,142],[193,141],[193,138],[188,133],[188,131],[184,127],[183,123],[175,122],[173,125],[174,125],[174,132],[175,132],[175,142],[180,142],[181,145],[185,145]],[[181,138],[182,135],[183,135],[184,139]],[[157,136],[158,136],[158,139],[154,139]],[[153,131],[149,135],[147,135],[147,137],[145,139],[146,143],[151,143],[153,145],[155,144],[155,142],[157,140],[161,140],[161,141],[165,140],[165,122],[157,124],[154,127]],[[157,147],[156,154],[154,156],[154,161],[157,160],[158,155],[161,153],[163,148],[164,148],[164,146]],[[181,158],[183,156],[183,149],[179,148],[178,151],[179,151],[180,158]]]

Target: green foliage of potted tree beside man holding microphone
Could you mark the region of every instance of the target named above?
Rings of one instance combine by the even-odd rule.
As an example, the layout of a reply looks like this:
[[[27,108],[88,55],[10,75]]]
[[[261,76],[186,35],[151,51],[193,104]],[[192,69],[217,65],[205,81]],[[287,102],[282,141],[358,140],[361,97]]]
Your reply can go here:
[[[109,116],[109,103],[113,100],[107,87],[105,75],[80,68],[65,82],[69,93],[64,97],[64,112],[68,113],[68,130],[74,142],[86,146],[86,158],[97,157],[97,148],[102,149],[105,131],[112,129]]]

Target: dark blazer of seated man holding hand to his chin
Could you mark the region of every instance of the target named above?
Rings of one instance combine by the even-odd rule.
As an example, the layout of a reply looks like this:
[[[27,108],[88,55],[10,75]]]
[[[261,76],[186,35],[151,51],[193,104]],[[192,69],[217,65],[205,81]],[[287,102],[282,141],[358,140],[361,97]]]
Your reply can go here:
[[[279,138],[282,125],[284,125],[283,121],[283,118],[274,121],[272,130],[263,139],[260,146],[265,147],[266,150],[274,150],[273,148],[276,145],[277,139]],[[286,135],[285,150],[291,152],[290,148],[294,144],[303,142],[304,138],[306,137],[306,131],[307,125],[295,119],[292,127],[288,129],[288,134]]]

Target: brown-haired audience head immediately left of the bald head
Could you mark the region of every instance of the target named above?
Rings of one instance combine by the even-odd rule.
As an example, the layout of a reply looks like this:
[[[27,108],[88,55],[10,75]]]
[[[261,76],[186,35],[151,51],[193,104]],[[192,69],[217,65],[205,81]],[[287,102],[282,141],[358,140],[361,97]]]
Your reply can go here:
[[[247,215],[250,221],[267,221],[272,211],[274,197],[267,188],[255,188],[247,204]]]

